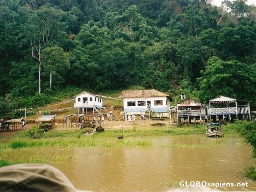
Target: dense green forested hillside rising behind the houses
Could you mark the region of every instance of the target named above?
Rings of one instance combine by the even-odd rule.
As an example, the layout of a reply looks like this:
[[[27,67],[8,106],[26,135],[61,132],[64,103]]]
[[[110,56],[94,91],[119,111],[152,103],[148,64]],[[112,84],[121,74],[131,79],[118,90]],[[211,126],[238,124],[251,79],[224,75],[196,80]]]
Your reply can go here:
[[[256,100],[256,9],[243,0],[3,0],[0,20],[2,108],[67,86]]]

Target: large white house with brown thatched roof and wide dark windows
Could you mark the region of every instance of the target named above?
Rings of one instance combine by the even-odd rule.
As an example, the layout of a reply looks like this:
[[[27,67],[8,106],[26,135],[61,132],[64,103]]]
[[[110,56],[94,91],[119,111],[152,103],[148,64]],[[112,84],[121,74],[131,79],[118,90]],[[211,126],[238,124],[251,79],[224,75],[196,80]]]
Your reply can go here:
[[[153,116],[168,117],[170,111],[170,97],[160,91],[128,90],[122,91],[120,98],[124,99],[124,112],[126,114],[141,114],[153,112]]]

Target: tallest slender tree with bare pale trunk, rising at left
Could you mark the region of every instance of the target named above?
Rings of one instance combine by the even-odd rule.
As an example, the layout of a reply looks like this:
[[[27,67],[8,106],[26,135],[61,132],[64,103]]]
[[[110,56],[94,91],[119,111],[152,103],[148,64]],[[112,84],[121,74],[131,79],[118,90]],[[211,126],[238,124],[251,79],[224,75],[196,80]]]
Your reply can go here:
[[[39,94],[41,92],[41,66],[42,48],[60,42],[65,37],[66,23],[63,18],[66,13],[60,9],[55,9],[49,4],[40,7],[39,10],[27,10],[28,18],[24,25],[25,37],[30,42],[31,55],[39,62]]]

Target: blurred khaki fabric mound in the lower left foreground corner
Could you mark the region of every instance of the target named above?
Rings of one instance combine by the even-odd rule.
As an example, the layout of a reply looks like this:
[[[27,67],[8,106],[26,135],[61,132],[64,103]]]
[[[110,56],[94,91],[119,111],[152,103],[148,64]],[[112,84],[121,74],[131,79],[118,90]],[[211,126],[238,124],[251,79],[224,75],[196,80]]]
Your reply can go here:
[[[19,164],[0,168],[1,191],[77,192],[68,178],[50,165]]]

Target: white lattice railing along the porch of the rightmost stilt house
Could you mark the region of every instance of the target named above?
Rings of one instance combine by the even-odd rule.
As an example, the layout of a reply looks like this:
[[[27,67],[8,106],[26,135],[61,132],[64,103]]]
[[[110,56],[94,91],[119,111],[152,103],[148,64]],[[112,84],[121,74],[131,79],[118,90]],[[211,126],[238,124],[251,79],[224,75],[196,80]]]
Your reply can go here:
[[[210,108],[208,115],[232,115],[232,114],[249,114],[249,107],[223,107],[223,108]]]

